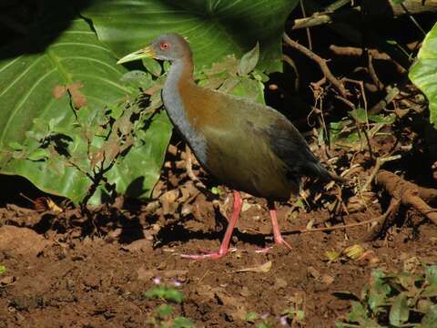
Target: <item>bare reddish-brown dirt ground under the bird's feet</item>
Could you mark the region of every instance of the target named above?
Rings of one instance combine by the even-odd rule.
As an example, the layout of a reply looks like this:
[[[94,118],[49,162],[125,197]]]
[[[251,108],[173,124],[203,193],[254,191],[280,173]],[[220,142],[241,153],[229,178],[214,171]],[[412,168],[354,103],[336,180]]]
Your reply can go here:
[[[150,318],[163,301],[148,299],[145,292],[157,282],[184,292],[185,301],[172,306],[197,327],[255,327],[246,321],[248,313],[260,313],[269,327],[332,327],[351,306],[335,292],[360,294],[374,268],[411,271],[437,261],[437,227],[414,210],[402,210],[387,233],[369,242],[361,241],[369,224],[300,232],[309,224],[362,222],[387,208],[382,195],[367,209],[336,214],[336,195],[342,190],[344,199],[351,187],[335,186],[321,197],[320,187],[312,190],[303,207],[279,206],[291,251],[277,246],[257,252],[272,244],[269,213],[265,200],[247,195],[232,240],[236,251],[219,261],[182,259],[179,253],[219,247],[226,228],[221,212],[229,215],[232,194],[197,188],[198,182],[188,179],[187,154],[174,147],[171,152],[156,200],[147,204],[119,199],[86,217],[65,203],[62,209],[47,206],[37,193],[29,193],[36,204],[5,196],[0,264],[7,271],[0,275],[0,327],[153,326]],[[370,169],[355,175],[369,177]],[[197,166],[194,170],[204,178]],[[211,183],[208,189],[214,186],[203,181]],[[362,247],[359,259],[328,261],[326,251],[354,244]],[[303,310],[304,319],[281,323],[290,308]]]

